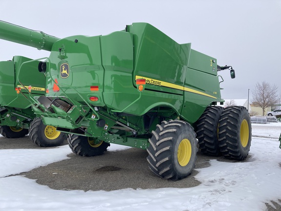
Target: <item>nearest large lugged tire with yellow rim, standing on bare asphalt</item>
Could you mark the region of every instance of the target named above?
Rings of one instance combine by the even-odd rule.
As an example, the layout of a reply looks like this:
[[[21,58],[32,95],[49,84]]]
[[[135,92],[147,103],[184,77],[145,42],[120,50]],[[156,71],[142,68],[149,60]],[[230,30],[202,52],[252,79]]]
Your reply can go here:
[[[152,172],[164,179],[187,177],[195,166],[198,151],[193,127],[180,120],[163,121],[152,133],[147,148]]]

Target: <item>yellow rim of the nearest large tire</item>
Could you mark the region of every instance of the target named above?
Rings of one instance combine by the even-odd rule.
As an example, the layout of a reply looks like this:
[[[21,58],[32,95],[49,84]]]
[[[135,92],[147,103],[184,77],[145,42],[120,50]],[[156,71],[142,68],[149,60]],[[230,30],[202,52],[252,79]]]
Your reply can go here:
[[[181,166],[186,166],[191,158],[191,144],[188,139],[183,139],[178,148],[178,162]]]

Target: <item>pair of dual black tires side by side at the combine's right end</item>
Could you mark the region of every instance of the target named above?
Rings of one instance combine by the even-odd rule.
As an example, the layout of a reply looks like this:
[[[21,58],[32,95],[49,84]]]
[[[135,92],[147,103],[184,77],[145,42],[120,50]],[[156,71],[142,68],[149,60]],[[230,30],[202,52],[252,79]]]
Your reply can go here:
[[[208,107],[197,121],[197,138],[201,152],[244,160],[251,146],[251,120],[243,106]]]

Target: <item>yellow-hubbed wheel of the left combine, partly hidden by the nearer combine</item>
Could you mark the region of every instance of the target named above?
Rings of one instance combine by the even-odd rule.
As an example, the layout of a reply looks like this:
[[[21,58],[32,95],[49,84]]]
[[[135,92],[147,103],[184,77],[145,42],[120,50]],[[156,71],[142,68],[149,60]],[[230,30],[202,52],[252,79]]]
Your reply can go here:
[[[29,137],[39,147],[57,147],[66,140],[66,134],[56,127],[45,126],[40,118],[35,118],[29,127]]]

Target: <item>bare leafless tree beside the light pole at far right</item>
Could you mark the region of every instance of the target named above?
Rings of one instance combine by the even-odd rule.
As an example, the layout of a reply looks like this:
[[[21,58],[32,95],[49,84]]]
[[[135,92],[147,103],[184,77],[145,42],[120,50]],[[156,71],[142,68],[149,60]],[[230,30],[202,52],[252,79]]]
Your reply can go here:
[[[264,116],[265,108],[276,105],[279,101],[277,94],[278,87],[275,84],[269,84],[267,82],[257,83],[253,94],[253,105],[262,108],[262,115]]]

